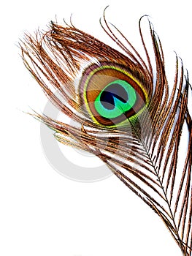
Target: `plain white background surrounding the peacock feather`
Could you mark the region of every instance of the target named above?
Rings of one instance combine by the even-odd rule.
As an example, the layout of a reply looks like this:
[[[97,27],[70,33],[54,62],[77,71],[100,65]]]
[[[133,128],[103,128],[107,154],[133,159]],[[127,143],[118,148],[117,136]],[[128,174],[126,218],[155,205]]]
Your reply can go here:
[[[58,20],[67,20],[73,12],[78,28],[110,44],[99,26],[108,4],[108,20],[136,45],[138,20],[141,15],[150,15],[165,48],[167,69],[174,65],[175,50],[192,74],[191,1],[3,1],[2,256],[181,255],[161,220],[115,176],[85,184],[55,172],[42,153],[39,122],[22,112],[29,110],[28,106],[43,110],[46,102],[19,56],[16,45],[24,31],[45,29],[55,15]]]

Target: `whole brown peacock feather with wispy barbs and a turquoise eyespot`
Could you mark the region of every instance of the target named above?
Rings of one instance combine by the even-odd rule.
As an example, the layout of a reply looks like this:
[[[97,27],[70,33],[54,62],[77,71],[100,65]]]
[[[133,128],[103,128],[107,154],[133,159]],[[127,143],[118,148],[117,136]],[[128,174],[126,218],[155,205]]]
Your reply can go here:
[[[176,56],[174,81],[168,84],[161,42],[150,22],[153,56],[147,51],[139,20],[147,61],[107,23],[105,15],[101,26],[123,53],[72,24],[51,23],[45,34],[26,35],[20,45],[24,64],[50,101],[75,124],[37,113],[34,116],[53,129],[61,143],[104,161],[161,217],[183,255],[190,256],[192,121],[188,74],[184,75],[183,63]],[[80,75],[77,88],[74,80]]]

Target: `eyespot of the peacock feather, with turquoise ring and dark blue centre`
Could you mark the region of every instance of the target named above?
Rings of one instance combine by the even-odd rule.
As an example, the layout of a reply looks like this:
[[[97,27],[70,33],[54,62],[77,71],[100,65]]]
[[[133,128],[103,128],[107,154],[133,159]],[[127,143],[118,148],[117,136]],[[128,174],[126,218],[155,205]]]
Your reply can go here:
[[[80,102],[93,121],[107,127],[134,119],[148,102],[147,91],[127,68],[112,63],[92,64],[80,81]]]

